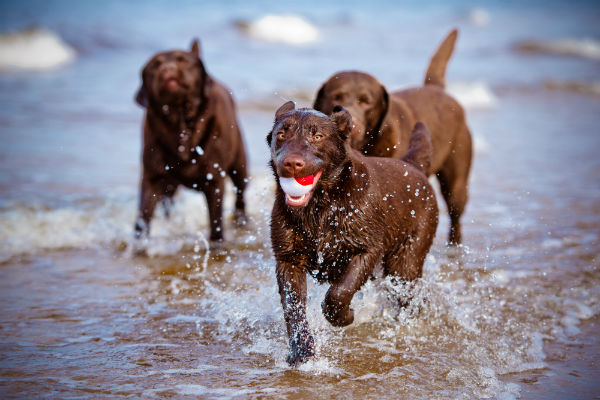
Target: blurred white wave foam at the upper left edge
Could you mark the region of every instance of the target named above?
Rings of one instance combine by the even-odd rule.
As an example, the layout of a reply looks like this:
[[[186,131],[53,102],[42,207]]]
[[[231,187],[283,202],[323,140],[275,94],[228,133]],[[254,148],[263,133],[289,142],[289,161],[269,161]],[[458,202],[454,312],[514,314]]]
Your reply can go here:
[[[0,69],[54,69],[75,57],[75,50],[52,31],[28,29],[0,35]]]

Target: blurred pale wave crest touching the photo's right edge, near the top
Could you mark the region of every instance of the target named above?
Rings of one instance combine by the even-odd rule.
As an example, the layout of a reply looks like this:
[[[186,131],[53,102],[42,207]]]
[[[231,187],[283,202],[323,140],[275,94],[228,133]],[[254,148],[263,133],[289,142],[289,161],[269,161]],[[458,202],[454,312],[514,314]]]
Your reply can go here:
[[[590,38],[525,40],[517,43],[516,49],[528,53],[547,53],[600,60],[600,40]]]

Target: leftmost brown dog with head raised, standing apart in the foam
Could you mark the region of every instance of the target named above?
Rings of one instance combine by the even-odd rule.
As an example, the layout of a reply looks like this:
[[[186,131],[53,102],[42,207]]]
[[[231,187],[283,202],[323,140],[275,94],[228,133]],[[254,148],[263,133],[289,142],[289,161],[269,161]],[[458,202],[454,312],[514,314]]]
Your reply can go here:
[[[207,74],[198,41],[153,56],[136,97],[146,108],[136,237],[148,235],[159,201],[180,185],[206,195],[210,239],[223,239],[225,176],[236,188],[235,221],[245,225],[246,151],[229,90]],[[168,208],[167,208],[168,213]]]

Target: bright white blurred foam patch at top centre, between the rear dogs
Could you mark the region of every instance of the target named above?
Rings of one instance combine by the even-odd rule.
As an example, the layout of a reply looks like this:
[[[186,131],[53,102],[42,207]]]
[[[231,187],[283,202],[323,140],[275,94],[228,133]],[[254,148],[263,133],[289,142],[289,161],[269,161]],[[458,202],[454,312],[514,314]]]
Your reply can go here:
[[[292,45],[313,43],[319,31],[304,18],[297,15],[265,15],[240,27],[251,37],[267,42]]]

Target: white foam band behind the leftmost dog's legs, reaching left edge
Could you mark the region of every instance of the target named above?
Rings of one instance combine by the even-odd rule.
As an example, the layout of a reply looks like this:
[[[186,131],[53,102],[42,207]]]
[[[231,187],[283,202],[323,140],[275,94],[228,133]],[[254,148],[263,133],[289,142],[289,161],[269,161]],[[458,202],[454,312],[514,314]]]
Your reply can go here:
[[[267,174],[253,177],[246,194],[251,217],[266,218],[270,213],[271,203],[267,199],[272,199],[274,185],[272,176]],[[229,181],[225,191],[224,228],[231,231],[229,219],[234,212],[235,195]],[[198,247],[198,254],[205,254],[206,243],[202,235],[208,233],[208,213],[202,193],[180,190],[169,218],[165,217],[161,207],[157,207],[150,237],[144,240],[133,238],[136,209],[136,195],[84,199],[56,208],[29,204],[6,207],[0,210],[0,262],[41,251],[107,245],[125,245],[132,254],[143,250],[151,257],[175,254],[187,247]],[[230,234],[225,232],[226,236]]]

